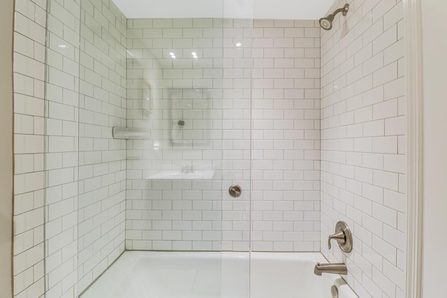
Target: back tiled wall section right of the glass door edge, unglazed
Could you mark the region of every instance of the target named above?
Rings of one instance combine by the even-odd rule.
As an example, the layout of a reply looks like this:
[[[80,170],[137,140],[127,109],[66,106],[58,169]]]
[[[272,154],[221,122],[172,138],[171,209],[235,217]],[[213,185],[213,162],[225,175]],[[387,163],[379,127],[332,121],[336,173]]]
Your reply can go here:
[[[320,29],[254,20],[251,248],[320,250]]]

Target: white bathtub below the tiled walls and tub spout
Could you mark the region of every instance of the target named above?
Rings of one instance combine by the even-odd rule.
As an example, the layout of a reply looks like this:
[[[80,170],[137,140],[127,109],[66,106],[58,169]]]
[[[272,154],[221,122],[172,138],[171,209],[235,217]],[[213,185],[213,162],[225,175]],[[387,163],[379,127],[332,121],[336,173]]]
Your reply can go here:
[[[357,298],[320,253],[124,253],[82,298]],[[86,281],[81,281],[85,283]]]

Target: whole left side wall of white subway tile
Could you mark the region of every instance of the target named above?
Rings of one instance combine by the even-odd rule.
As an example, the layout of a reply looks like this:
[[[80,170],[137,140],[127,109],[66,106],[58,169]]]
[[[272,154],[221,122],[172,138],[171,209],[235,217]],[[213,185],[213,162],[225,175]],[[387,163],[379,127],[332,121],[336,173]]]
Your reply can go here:
[[[51,1],[47,18],[47,297],[75,297],[78,278],[88,285],[124,251],[125,141],[111,140],[111,129],[125,125],[126,20],[111,1],[82,3],[80,15],[79,1]],[[15,8],[15,297],[44,292],[46,6]]]

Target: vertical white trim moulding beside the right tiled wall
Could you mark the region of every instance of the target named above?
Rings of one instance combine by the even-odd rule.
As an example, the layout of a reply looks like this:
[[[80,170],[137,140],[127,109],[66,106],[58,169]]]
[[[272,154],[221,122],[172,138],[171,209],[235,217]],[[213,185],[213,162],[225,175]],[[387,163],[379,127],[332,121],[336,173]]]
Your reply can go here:
[[[423,290],[423,77],[422,20],[418,0],[403,0],[406,26],[406,89],[408,133],[408,214],[406,295],[421,298]]]

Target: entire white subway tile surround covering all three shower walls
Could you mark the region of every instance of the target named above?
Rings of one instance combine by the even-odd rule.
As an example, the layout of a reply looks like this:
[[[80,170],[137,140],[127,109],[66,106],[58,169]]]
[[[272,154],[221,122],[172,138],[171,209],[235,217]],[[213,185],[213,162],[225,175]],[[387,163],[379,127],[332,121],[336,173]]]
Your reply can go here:
[[[125,20],[108,0],[52,1],[46,17],[45,1],[16,1],[15,297],[43,297],[44,278],[47,297],[76,297],[125,246],[342,262],[325,246],[338,220],[358,295],[405,297],[403,4],[349,3],[322,31]],[[112,126],[152,136],[113,140]]]

